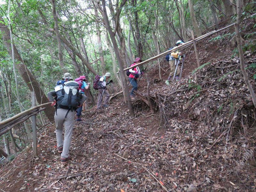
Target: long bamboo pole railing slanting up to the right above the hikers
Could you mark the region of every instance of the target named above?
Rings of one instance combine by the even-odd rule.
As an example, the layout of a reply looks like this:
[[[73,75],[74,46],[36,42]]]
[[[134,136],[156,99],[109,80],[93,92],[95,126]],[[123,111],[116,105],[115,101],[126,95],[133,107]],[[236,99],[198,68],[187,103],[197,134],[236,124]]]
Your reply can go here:
[[[219,29],[219,30],[217,30],[217,31],[214,30],[214,31],[212,31],[212,32],[210,32],[210,33],[207,33],[207,34],[205,34],[205,35],[202,35],[202,36],[200,36],[200,37],[197,37],[197,38],[195,39],[195,42],[196,42],[196,41],[200,41],[200,40],[206,38],[207,36],[210,36],[210,35],[212,35],[212,34],[214,34],[214,33],[217,33],[217,32],[219,32],[219,31],[221,31],[221,30],[224,30],[224,29],[226,29],[226,28],[229,28],[229,27],[231,27],[231,26],[233,26],[233,25],[235,25],[235,23],[233,23],[233,24],[231,24],[231,25],[228,25],[227,27],[221,28],[221,29]],[[184,43],[184,44],[182,44],[182,45],[180,45],[180,46],[178,46],[178,47],[175,47],[175,48],[173,48],[173,49],[171,49],[171,50],[167,50],[166,52],[163,52],[163,53],[161,53],[161,54],[159,54],[159,55],[156,55],[155,57],[152,57],[152,58],[150,58],[150,59],[148,59],[148,60],[142,61],[142,62],[140,62],[140,63],[138,63],[138,64],[136,64],[136,65],[133,65],[132,67],[125,68],[124,71],[126,71],[126,70],[128,70],[128,69],[131,69],[131,68],[135,68],[135,67],[140,66],[140,65],[142,65],[142,64],[148,63],[149,61],[156,60],[156,59],[158,59],[158,58],[160,58],[160,57],[162,57],[162,56],[164,56],[164,55],[166,55],[166,54],[168,54],[168,53],[170,54],[171,52],[174,52],[174,51],[176,51],[176,50],[178,50],[178,49],[180,49],[180,48],[187,47],[187,46],[190,45],[190,44],[193,44],[193,40],[188,41],[187,43]],[[117,72],[117,73],[119,73],[119,72]]]

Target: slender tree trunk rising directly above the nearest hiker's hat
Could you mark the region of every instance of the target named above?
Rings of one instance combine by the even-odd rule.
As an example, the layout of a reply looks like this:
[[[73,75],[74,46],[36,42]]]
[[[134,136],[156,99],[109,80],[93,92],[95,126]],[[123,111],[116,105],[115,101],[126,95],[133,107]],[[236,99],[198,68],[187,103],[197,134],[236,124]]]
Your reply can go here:
[[[53,20],[54,20],[54,31],[56,34],[56,38],[57,38],[57,42],[58,42],[58,51],[59,51],[59,62],[60,62],[60,68],[64,73],[67,73],[67,69],[64,66],[63,63],[63,54],[62,54],[62,49],[61,49],[61,40],[60,40],[60,32],[59,32],[59,26],[58,26],[58,17],[56,14],[56,5],[55,5],[55,0],[51,0],[52,1],[52,16],[53,16]]]

